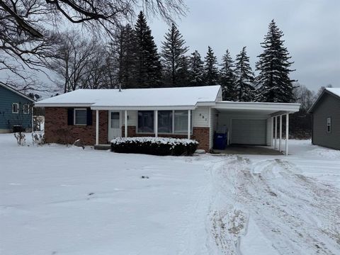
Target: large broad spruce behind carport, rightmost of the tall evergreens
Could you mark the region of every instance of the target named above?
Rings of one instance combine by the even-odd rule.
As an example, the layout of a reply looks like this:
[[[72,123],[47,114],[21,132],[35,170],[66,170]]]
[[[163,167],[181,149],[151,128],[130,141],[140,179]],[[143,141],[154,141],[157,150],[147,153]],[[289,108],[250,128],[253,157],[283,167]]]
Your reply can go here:
[[[263,53],[258,56],[259,62],[256,63],[256,70],[259,71],[259,76],[256,77],[256,84],[259,86],[256,101],[294,101],[294,80],[289,78],[290,72],[294,71],[289,68],[293,62],[289,62],[290,56],[287,48],[283,47],[282,36],[282,31],[271,21],[264,42],[261,43]]]

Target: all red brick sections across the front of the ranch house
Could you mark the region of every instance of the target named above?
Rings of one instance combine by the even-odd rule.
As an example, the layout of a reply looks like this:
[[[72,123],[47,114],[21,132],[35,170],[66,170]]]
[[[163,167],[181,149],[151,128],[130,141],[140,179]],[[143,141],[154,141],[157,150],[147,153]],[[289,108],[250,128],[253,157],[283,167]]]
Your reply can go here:
[[[199,142],[198,149],[209,152],[209,128],[193,127],[191,139]],[[122,137],[125,136],[125,127],[122,127]],[[128,137],[142,137],[154,134],[137,134],[135,126],[128,126]],[[159,137],[187,138],[187,135],[159,134]],[[46,142],[64,144],[73,143],[81,139],[84,145],[96,144],[96,111],[92,111],[92,125],[67,125],[67,108],[45,108],[45,138]],[[99,144],[108,143],[108,111],[99,111]]]

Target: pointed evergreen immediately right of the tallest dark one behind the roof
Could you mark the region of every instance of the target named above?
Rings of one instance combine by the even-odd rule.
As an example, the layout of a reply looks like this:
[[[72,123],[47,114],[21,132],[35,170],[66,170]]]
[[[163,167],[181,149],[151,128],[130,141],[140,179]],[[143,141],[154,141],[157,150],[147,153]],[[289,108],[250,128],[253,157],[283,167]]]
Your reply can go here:
[[[186,41],[174,23],[164,38],[161,56],[166,80],[169,81],[170,86],[186,86],[188,76],[188,61],[185,56],[188,47],[184,46]]]

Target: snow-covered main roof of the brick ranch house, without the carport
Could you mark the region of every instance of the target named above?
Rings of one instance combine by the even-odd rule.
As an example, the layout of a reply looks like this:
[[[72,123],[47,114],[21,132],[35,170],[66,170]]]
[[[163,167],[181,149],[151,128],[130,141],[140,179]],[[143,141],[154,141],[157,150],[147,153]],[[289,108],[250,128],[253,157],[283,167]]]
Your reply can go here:
[[[89,107],[94,110],[135,108],[187,108],[215,103],[220,86],[175,87],[159,89],[78,89],[47,98],[35,106]]]

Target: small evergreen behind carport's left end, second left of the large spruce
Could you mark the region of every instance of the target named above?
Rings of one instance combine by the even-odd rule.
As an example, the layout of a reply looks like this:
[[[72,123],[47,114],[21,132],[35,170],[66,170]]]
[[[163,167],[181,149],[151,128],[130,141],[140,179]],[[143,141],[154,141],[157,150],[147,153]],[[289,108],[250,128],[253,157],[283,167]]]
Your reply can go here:
[[[229,50],[222,57],[220,69],[220,84],[222,86],[222,98],[227,101],[237,100],[237,91],[235,87],[234,62],[230,56]]]

